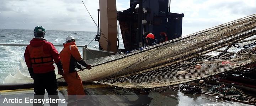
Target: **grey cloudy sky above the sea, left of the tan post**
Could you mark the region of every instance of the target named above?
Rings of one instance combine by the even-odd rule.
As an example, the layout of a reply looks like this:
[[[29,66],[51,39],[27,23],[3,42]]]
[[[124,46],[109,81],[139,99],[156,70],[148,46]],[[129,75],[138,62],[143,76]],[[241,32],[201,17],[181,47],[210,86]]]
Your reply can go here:
[[[81,1],[3,0],[0,4],[0,28],[33,29],[43,25],[51,30],[96,31]]]

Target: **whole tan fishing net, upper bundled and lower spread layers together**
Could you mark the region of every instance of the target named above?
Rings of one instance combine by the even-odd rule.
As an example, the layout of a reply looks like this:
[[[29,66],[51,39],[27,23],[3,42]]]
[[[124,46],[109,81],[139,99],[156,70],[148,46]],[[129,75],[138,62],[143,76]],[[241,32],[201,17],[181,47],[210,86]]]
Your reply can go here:
[[[211,72],[190,70],[194,66],[177,66],[177,69],[173,66],[177,63],[187,63],[189,59],[197,58],[199,55],[231,45],[255,34],[256,15],[254,14],[186,37],[155,45],[143,51],[138,50],[129,54],[122,53],[87,60],[86,62],[94,67],[91,70],[80,71],[79,75],[86,82],[102,81],[105,84],[126,88],[155,88],[193,81],[252,63],[254,60],[247,57],[254,57],[254,55],[243,54],[236,57],[235,60],[234,58],[222,57],[222,60],[232,61],[233,65],[223,66],[219,62],[215,62],[214,66],[216,68],[214,69],[216,70]],[[237,58],[239,60],[236,60]],[[209,64],[213,64],[213,61],[216,60],[209,60]],[[150,73],[154,74],[151,75]],[[186,74],[191,73],[197,76],[186,76]],[[146,76],[142,76],[143,74]],[[131,79],[124,80],[127,78]],[[63,79],[59,81],[63,81]]]

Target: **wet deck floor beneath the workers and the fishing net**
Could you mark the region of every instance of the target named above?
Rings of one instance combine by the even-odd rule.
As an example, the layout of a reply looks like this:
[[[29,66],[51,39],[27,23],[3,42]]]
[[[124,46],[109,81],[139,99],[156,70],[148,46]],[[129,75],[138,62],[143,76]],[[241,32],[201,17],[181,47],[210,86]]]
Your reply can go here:
[[[123,93],[116,90],[113,92],[113,90],[110,90],[105,85],[85,85],[84,87],[85,91],[91,94],[88,95],[91,98],[90,101],[101,106],[250,106],[239,102],[215,99],[214,96],[204,94],[188,95],[171,90],[167,90],[164,93],[151,92],[149,94],[137,95],[133,92]],[[60,87],[58,90],[59,99],[66,99],[66,87]],[[117,95],[116,92],[122,95]],[[24,98],[33,99],[33,94],[33,89],[0,91],[0,106],[32,106],[33,104],[24,103]],[[23,103],[3,103],[5,98],[23,99]],[[48,99],[47,93],[44,98]],[[66,105],[67,102],[59,104],[59,106]],[[49,106],[49,104],[45,104],[44,106]]]

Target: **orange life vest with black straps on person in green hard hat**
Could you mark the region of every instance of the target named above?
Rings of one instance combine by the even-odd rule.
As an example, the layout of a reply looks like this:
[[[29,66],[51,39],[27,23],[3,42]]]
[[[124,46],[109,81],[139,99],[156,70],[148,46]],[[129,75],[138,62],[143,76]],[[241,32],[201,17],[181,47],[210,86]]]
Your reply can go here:
[[[31,45],[28,45],[28,51],[30,53],[32,67],[39,67],[43,65],[54,64],[52,55],[45,54],[43,52],[43,45],[38,47],[33,47]]]

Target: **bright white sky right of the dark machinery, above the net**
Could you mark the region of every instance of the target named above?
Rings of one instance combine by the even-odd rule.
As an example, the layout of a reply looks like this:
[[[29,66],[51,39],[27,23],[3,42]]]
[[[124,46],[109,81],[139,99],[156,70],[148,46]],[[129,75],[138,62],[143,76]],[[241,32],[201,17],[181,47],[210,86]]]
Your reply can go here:
[[[171,12],[185,14],[183,36],[255,14],[255,7],[255,0],[171,1]]]

